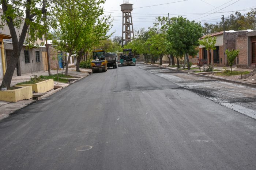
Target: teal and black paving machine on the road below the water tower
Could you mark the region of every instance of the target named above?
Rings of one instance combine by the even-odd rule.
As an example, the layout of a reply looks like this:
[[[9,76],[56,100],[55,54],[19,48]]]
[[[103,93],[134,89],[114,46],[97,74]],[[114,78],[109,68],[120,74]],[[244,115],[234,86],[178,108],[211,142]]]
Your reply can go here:
[[[118,61],[119,66],[136,66],[136,58],[133,58],[132,49],[123,50],[123,54],[120,54]]]

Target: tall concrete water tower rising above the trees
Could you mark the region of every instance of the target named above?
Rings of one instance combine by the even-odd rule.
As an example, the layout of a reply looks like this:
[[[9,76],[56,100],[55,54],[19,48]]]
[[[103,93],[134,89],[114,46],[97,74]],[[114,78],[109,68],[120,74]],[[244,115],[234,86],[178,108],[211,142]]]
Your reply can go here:
[[[124,0],[121,4],[121,11],[123,12],[123,28],[122,28],[122,45],[127,44],[134,38],[132,25],[132,4],[129,0]]]

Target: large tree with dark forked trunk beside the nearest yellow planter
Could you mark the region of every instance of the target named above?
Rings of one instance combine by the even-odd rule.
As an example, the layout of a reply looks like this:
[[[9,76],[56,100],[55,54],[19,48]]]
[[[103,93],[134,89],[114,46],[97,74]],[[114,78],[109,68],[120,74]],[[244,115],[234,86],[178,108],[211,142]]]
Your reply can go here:
[[[52,4],[46,0],[1,0],[1,5],[3,7],[3,15],[1,15],[0,28],[3,29],[5,24],[8,25],[12,36],[12,47],[15,49],[12,52],[11,62],[8,64],[1,84],[1,87],[10,87],[23,44],[26,43],[30,48],[38,46],[39,44],[35,44],[38,37],[42,37],[45,30],[50,29],[50,27],[45,27],[42,23],[45,20],[44,13]],[[52,12],[48,13],[48,17],[54,19]],[[22,31],[16,32],[15,28]],[[26,38],[28,30],[30,36]]]

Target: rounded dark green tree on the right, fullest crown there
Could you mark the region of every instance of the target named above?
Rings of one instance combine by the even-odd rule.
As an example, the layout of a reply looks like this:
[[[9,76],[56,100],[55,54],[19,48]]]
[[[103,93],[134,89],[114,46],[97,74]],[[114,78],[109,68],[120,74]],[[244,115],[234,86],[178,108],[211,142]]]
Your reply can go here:
[[[200,23],[189,21],[182,16],[173,17],[167,34],[174,52],[178,56],[185,55],[187,63],[189,63],[188,55],[195,56],[197,54],[196,47],[199,46],[199,38],[203,35]],[[190,64],[188,64],[188,70],[190,70]]]

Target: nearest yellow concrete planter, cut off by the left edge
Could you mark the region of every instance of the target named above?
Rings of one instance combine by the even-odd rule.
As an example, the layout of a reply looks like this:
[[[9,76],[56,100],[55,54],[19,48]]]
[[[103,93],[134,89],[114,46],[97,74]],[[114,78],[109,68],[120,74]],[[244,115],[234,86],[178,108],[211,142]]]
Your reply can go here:
[[[15,87],[13,87],[15,88]],[[7,102],[18,102],[23,99],[31,99],[33,97],[32,87],[20,87],[14,90],[0,91],[0,100]]]

